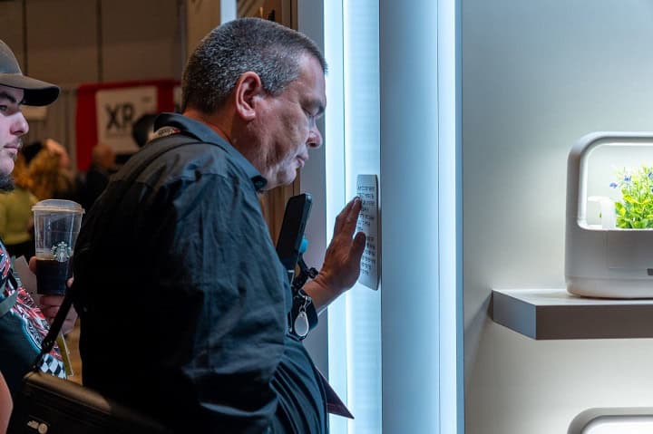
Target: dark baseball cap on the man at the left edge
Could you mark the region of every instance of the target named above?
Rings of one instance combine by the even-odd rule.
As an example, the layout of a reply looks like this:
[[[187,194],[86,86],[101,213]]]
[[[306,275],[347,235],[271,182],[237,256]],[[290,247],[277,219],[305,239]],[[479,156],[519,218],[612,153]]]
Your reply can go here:
[[[59,87],[42,82],[26,75],[20,70],[18,61],[9,46],[0,40],[0,84],[23,89],[24,105],[48,105],[59,97]]]

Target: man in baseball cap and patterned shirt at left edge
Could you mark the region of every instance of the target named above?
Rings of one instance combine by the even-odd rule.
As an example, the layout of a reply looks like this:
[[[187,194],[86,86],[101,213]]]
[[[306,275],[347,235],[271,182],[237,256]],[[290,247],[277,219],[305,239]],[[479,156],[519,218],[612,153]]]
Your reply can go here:
[[[54,84],[24,75],[14,53],[0,41],[0,189],[13,188],[11,173],[15,158],[22,146],[21,137],[29,130],[21,106],[48,105],[58,96],[59,88]],[[0,372],[12,395],[18,391],[40,350],[48,330],[47,320],[54,318],[62,301],[63,297],[43,296],[35,304],[12,269],[11,258],[0,241]],[[69,316],[66,331],[72,328],[73,322],[74,313]],[[65,376],[58,350],[48,354],[41,369]]]

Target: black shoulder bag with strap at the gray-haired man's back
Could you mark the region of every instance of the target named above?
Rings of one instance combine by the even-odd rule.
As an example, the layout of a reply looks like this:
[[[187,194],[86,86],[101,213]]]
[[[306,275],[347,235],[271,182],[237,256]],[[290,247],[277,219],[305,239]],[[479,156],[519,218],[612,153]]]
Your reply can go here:
[[[171,433],[158,420],[128,409],[97,391],[39,370],[41,358],[52,351],[66,314],[73,304],[69,290],[44,339],[33,369],[23,379],[7,434],[163,434]]]

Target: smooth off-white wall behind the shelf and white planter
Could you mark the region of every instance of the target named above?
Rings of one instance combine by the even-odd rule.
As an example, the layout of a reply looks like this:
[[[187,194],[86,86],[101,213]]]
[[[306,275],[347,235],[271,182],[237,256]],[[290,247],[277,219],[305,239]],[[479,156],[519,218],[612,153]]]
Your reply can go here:
[[[651,340],[536,342],[488,319],[492,287],[564,285],[575,140],[653,130],[653,2],[463,0],[462,20],[465,432],[653,406]]]

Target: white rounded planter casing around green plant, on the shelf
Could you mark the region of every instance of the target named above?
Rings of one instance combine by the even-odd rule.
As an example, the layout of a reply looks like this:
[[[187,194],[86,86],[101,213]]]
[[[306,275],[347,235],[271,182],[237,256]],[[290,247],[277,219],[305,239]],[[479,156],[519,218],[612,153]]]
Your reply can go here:
[[[653,132],[595,132],[571,149],[567,166],[567,290],[589,297],[653,298],[653,229],[610,227],[614,217],[605,213],[614,212],[613,204],[606,198],[588,198],[588,159],[594,149],[604,145],[653,147]],[[588,200],[600,202],[609,224],[588,224]]]

